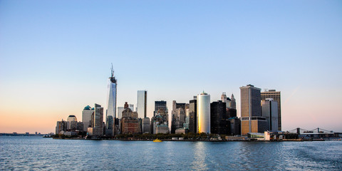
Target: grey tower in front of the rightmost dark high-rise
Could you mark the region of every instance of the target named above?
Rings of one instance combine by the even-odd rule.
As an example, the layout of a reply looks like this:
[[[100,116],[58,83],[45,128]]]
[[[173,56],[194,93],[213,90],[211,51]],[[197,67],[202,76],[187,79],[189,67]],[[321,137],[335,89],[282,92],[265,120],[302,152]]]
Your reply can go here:
[[[261,115],[267,120],[267,130],[278,131],[278,102],[272,98],[261,100]]]

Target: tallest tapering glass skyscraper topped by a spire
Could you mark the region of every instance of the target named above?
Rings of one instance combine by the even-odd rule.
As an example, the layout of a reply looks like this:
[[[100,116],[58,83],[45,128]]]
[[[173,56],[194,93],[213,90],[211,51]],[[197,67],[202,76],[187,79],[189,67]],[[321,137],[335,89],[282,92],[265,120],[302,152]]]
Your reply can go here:
[[[107,94],[107,110],[105,113],[106,121],[111,121],[111,123],[106,123],[107,129],[113,128],[113,120],[117,117],[116,115],[116,92],[117,92],[117,80],[114,76],[113,65],[111,68],[111,76],[108,78],[108,94]],[[108,116],[112,116],[108,118]],[[108,119],[107,119],[108,118]],[[113,119],[112,119],[113,118]]]

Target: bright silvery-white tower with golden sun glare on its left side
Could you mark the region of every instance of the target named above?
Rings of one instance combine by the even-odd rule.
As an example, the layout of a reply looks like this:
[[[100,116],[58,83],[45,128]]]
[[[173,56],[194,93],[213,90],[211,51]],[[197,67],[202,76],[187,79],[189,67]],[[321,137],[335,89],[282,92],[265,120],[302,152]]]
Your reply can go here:
[[[210,95],[197,95],[197,133],[210,133]]]

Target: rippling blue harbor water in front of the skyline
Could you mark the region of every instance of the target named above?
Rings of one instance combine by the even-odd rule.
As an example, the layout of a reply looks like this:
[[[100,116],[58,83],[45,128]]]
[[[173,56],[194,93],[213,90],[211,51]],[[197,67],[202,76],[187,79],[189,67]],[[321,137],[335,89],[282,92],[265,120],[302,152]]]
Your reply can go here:
[[[0,137],[0,170],[342,170],[342,142]]]

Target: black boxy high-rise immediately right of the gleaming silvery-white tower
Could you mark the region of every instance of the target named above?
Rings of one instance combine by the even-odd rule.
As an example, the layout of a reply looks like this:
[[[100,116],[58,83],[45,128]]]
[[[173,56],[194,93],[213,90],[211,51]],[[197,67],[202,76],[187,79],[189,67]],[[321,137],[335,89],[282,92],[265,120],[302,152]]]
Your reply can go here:
[[[229,133],[230,123],[228,123],[226,108],[226,103],[222,100],[210,104],[210,133],[219,135]]]

